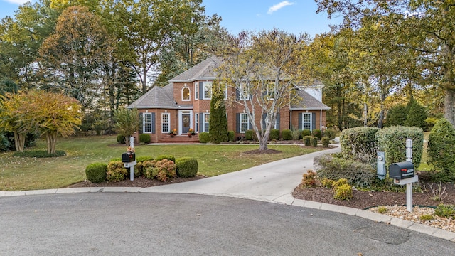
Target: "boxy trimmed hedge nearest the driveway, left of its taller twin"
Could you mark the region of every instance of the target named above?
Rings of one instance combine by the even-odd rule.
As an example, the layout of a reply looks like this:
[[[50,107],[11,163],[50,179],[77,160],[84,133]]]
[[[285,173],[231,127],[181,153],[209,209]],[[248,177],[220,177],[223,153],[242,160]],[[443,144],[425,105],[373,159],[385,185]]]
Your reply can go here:
[[[340,135],[343,158],[364,164],[375,163],[377,157],[375,134],[378,131],[379,129],[374,127],[344,129]]]

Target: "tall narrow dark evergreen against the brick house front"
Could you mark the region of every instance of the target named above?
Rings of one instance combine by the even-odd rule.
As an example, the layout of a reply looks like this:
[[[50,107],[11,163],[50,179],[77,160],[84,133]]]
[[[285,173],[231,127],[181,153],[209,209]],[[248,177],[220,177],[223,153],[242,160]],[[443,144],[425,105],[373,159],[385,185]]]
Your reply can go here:
[[[226,106],[224,90],[219,85],[212,87],[212,100],[210,102],[210,120],[208,134],[210,142],[228,142],[228,119],[226,118]]]

